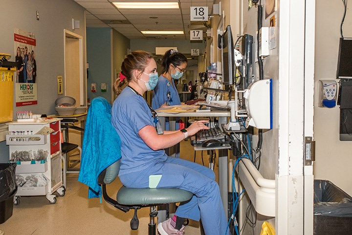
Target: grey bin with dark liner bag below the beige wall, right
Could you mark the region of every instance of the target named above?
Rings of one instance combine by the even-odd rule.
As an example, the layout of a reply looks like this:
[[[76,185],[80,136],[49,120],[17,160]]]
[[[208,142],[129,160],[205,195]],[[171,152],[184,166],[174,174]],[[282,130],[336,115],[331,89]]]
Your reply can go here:
[[[352,235],[352,197],[328,180],[314,180],[314,235]]]

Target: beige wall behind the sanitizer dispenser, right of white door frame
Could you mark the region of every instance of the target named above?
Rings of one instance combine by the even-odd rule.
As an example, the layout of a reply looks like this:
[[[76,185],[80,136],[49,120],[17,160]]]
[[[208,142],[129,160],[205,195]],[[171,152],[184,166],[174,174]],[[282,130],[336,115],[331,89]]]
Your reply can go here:
[[[314,178],[327,179],[352,195],[352,143],[339,141],[339,107],[318,107],[318,81],[336,77],[341,1],[319,0],[316,4],[314,139],[316,160]],[[348,8],[343,26],[344,37],[352,37],[352,9]]]

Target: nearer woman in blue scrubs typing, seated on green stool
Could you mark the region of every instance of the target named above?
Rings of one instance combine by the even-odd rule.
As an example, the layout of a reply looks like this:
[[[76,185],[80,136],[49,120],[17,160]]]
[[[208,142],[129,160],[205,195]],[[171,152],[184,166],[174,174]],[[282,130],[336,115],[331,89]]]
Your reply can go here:
[[[159,223],[160,235],[183,235],[184,218],[199,221],[206,235],[229,235],[220,189],[215,174],[209,168],[184,159],[167,156],[163,149],[208,129],[196,121],[187,129],[163,131],[158,126],[155,111],[143,98],[157,82],[153,55],[134,51],[121,65],[114,92],[118,94],[111,108],[111,123],[121,139],[119,178],[130,188],[148,188],[150,175],[162,175],[157,188],[179,188],[193,192],[193,197],[181,203],[174,217]],[[124,85],[127,86],[121,91]]]

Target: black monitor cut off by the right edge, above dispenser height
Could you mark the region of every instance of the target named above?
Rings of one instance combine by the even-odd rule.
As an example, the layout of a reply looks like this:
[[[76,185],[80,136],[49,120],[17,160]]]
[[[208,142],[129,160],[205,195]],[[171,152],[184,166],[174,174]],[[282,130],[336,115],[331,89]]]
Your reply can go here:
[[[340,38],[336,77],[352,78],[352,38]]]

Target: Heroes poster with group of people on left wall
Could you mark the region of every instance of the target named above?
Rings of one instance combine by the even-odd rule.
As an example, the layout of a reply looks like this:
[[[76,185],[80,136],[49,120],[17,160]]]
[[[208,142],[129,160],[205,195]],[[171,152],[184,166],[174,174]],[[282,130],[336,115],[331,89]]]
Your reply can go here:
[[[14,29],[16,106],[37,105],[37,61],[35,34]]]

